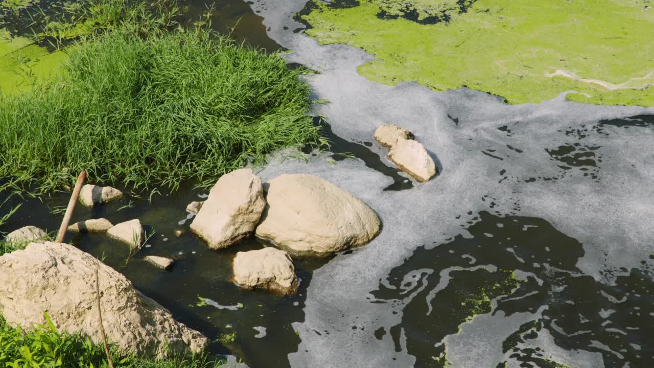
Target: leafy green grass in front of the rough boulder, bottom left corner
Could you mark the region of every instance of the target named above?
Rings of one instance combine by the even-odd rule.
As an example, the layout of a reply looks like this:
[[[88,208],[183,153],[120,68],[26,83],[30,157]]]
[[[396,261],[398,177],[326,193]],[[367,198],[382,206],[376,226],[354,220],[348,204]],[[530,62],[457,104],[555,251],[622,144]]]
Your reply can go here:
[[[46,325],[29,331],[11,327],[0,316],[0,367],[7,368],[91,368],[109,367],[105,350],[88,337],[60,333],[46,314]],[[140,359],[111,349],[114,367],[118,368],[216,368],[225,367],[222,361],[212,361],[205,354],[177,356],[167,359]]]

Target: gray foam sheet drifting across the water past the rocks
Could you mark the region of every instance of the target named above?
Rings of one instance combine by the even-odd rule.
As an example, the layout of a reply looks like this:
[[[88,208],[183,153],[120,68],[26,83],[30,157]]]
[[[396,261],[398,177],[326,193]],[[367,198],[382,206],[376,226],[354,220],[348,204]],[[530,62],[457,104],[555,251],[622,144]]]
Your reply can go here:
[[[632,267],[651,254],[654,129],[608,127],[609,136],[591,132],[585,138],[566,136],[564,131],[600,119],[654,113],[654,109],[583,105],[566,101],[564,94],[540,104],[507,105],[500,98],[465,88],[434,92],[415,83],[373,83],[356,72],[358,65],[373,58],[370,54],[345,45],[320,46],[302,33],[292,33],[301,27],[292,16],[304,3],[255,0],[251,6],[260,10],[269,36],[294,50],[287,56],[290,62],[320,69],[307,81],[315,98],[330,103],[318,106],[315,113],[328,118],[335,134],[352,141],[371,141],[379,124],[404,126],[438,158],[443,170],[432,181],[399,192],[383,191],[390,179],[360,160],[273,161],[260,173],[264,179],[294,172],[319,175],[364,200],[383,221],[383,231],[368,246],[339,255],[313,275],[305,322],[293,326],[302,339],[298,352],[288,357],[293,367],[413,365],[415,358],[405,351],[394,352],[388,335],[381,340],[373,336],[378,327],[388,331],[400,322],[404,303],[370,303],[370,291],[418,246],[459,234],[460,225],[472,217],[466,212],[489,210],[483,197],[493,198],[494,210],[541,217],[579,240],[586,253],[577,267],[598,280],[606,268]],[[510,137],[498,130],[504,125],[510,126]],[[598,182],[576,169],[562,174],[560,162],[545,151],[578,141],[601,146]],[[377,145],[373,149],[385,153]],[[485,149],[494,149],[503,160],[484,155]],[[509,174],[502,183],[498,183],[500,170]],[[560,175],[557,181],[525,182],[530,177]],[[457,215],[463,216],[455,219]],[[475,318],[466,329],[489,329],[502,320],[501,314]],[[318,336],[313,330],[329,334]],[[475,344],[475,339],[483,342],[475,334],[466,339],[469,344]],[[452,346],[456,358],[454,350]],[[557,354],[574,361],[565,354],[576,352]],[[468,366],[466,359],[458,359],[452,360],[454,367]]]

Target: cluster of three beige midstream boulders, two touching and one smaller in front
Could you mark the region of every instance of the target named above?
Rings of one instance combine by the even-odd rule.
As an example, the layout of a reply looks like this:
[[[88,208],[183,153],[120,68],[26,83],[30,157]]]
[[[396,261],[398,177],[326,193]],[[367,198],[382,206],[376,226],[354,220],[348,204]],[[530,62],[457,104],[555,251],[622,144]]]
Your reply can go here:
[[[288,253],[330,255],[367,244],[381,229],[379,217],[364,202],[315,175],[280,175],[267,184],[264,196],[252,170],[223,175],[191,224],[211,249],[252,234],[284,249],[237,253],[233,280],[245,289],[294,293],[298,281]]]

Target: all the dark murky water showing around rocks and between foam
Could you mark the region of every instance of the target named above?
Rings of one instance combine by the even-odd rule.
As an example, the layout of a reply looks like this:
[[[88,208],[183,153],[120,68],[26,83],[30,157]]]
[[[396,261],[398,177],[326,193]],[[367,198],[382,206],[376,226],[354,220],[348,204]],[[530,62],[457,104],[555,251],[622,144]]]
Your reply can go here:
[[[241,20],[239,25],[249,26],[236,28],[235,37],[249,39],[256,46],[273,49],[279,46],[267,39],[266,28],[260,24],[262,18],[247,4],[233,0],[216,4],[216,9],[220,11],[215,14],[215,29],[220,30],[221,24],[223,28],[232,27],[239,17],[247,18],[248,22]],[[203,5],[196,3],[188,14],[199,16],[204,10]],[[458,126],[458,118],[452,119]],[[461,124],[465,123],[461,119]],[[601,141],[598,137],[611,134],[611,139],[619,140],[621,129],[631,133],[639,129],[650,132],[654,118],[641,116],[592,124],[571,123],[569,128],[557,132],[557,139],[552,139],[555,143],[551,147],[545,148],[548,160],[554,164],[552,169],[528,175],[511,166],[516,157],[528,156],[525,151],[530,148],[511,140],[515,132],[521,130],[521,124],[515,121],[498,128],[510,144],[498,139],[493,145],[475,147],[480,155],[502,163],[503,168],[496,175],[498,185],[549,185],[570,178],[583,178],[588,185],[598,184],[606,159],[606,150],[597,144]],[[385,187],[388,191],[401,189],[410,193],[417,190],[415,183],[405,181],[405,176],[398,174],[383,158],[383,150],[370,141],[339,138],[330,129],[326,132],[336,143],[332,151],[357,156],[367,168],[392,179],[390,186]],[[549,144],[547,141],[543,143]],[[351,160],[344,155],[332,158],[335,161]],[[453,174],[447,170],[452,170],[451,166],[445,168],[444,175]],[[495,177],[489,176],[489,179]],[[302,348],[300,342],[304,337],[296,333],[292,323],[304,322],[307,287],[311,284],[313,271],[330,260],[296,262],[301,284],[298,295],[294,297],[241,291],[228,280],[230,261],[236,251],[260,248],[264,244],[251,240],[224,251],[210,251],[192,234],[187,233],[181,238],[173,235],[175,229],[188,229],[190,219],[187,219],[184,208],[188,202],[199,200],[199,194],[203,193],[186,187],[175,194],[154,196],[152,204],[131,198],[131,208],[122,208],[129,204],[130,198],[94,210],[78,207],[73,221],[106,217],[118,223],[139,218],[146,229],[155,231],[147,242],[150,247],[131,257],[127,263],[127,247],[103,236],[68,234],[66,241],[104,258],[107,264],[132,280],[139,290],[169,308],[175,318],[211,339],[217,339],[223,333],[236,333],[231,344],[212,344],[212,352],[234,354],[251,367],[289,367],[288,355]],[[456,354],[466,351],[466,344],[470,343],[468,338],[475,333],[502,336],[494,340],[492,348],[483,351],[485,359],[498,367],[502,367],[504,362],[509,367],[557,367],[557,363],[571,367],[653,366],[654,293],[652,271],[647,265],[654,256],[650,255],[649,259],[642,259],[628,268],[600,267],[602,276],[606,276],[600,282],[579,267],[579,261],[585,255],[584,244],[543,219],[517,215],[522,210],[518,200],[510,210],[506,204],[497,206],[498,202],[512,199],[485,196],[482,200],[489,210],[476,214],[463,212],[453,217],[451,221],[460,222],[461,229],[459,235],[449,240],[422,246],[411,243],[411,240],[407,240],[410,244],[401,244],[415,250],[402,265],[392,268],[381,278],[377,287],[368,290],[370,295],[367,296],[370,306],[400,316],[397,323],[371,329],[366,328],[369,324],[356,322],[364,320],[364,315],[331,311],[343,320],[354,321],[345,327],[350,331],[339,331],[340,326],[330,329],[310,327],[308,333],[320,337],[325,344],[336,339],[335,335],[341,339],[345,333],[362,335],[362,340],[368,337],[388,341],[389,346],[394,347],[391,355],[396,355],[399,361],[401,356],[410,354],[415,357],[417,367],[438,367],[445,364],[445,359],[462,361]],[[24,225],[56,230],[61,214],[51,214],[48,207],[63,207],[65,204],[66,194],[48,198],[44,203],[27,200],[20,212],[0,231],[7,232]],[[390,230],[385,228],[385,231]],[[425,227],[421,232],[421,235],[433,234],[434,238],[441,234],[438,226]],[[164,272],[142,261],[145,255],[163,255],[177,261],[171,271]],[[608,253],[605,256],[611,257]],[[348,257],[351,255],[337,256],[341,263]],[[341,287],[348,286],[343,284]],[[473,314],[478,315],[470,320]],[[480,324],[473,323],[496,317],[502,318],[495,325],[489,322],[477,327]],[[262,336],[262,327],[265,336]],[[505,339],[504,336],[508,337]],[[479,354],[479,350],[474,351],[474,354]],[[309,353],[308,350],[305,352]],[[368,357],[371,361],[373,358]],[[393,365],[392,360],[383,365]]]

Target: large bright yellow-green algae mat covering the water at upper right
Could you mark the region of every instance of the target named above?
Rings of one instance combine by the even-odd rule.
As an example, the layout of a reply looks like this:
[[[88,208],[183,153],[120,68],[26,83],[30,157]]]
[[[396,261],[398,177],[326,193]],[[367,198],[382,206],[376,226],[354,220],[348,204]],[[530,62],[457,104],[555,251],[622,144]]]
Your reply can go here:
[[[316,0],[301,18],[322,44],[375,55],[383,84],[468,87],[508,103],[654,106],[654,9],[644,0]]]

